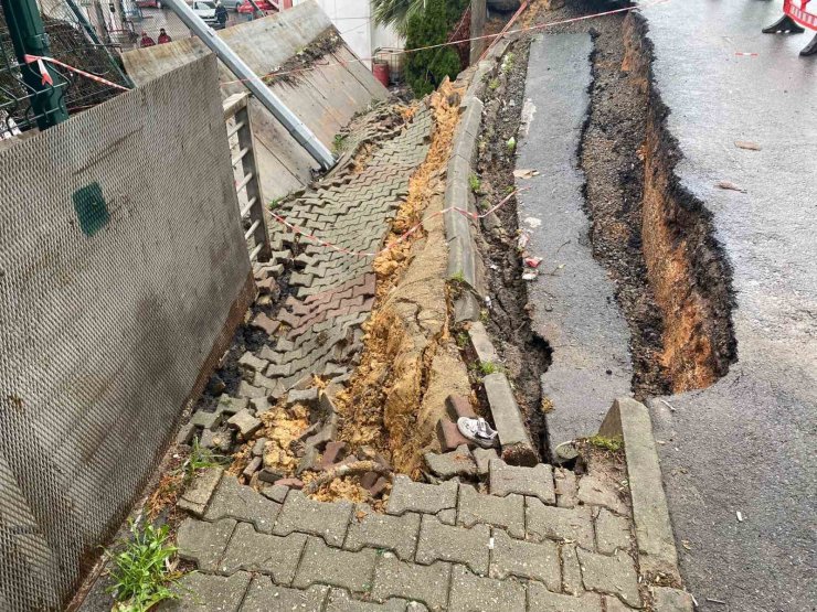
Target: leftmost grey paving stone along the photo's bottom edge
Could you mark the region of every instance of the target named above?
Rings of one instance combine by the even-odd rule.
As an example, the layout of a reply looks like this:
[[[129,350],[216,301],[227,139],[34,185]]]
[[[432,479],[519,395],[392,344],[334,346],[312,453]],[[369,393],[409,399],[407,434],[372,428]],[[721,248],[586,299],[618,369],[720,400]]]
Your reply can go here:
[[[211,576],[198,571],[188,573],[171,589],[179,599],[165,600],[157,612],[237,612],[251,576],[238,571],[230,577]]]

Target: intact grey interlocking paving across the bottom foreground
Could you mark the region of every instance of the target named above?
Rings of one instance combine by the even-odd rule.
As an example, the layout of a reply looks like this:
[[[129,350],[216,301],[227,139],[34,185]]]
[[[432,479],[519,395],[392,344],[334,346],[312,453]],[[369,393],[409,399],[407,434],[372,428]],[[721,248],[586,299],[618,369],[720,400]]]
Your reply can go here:
[[[629,508],[604,474],[489,462],[485,491],[396,476],[386,513],[257,493],[211,469],[165,611],[617,612],[643,606]],[[669,590],[668,590],[669,591]],[[660,593],[659,593],[660,594]],[[671,594],[671,593],[670,593]],[[676,610],[664,608],[662,610]]]

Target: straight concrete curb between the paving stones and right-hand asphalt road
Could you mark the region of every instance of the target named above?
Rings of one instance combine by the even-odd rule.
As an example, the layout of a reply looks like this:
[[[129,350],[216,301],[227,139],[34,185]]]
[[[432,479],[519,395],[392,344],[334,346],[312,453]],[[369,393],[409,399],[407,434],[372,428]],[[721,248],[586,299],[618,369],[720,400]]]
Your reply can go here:
[[[635,399],[619,397],[598,433],[606,438],[620,436],[624,440],[641,573],[651,577],[661,573],[680,584],[678,550],[647,407]]]

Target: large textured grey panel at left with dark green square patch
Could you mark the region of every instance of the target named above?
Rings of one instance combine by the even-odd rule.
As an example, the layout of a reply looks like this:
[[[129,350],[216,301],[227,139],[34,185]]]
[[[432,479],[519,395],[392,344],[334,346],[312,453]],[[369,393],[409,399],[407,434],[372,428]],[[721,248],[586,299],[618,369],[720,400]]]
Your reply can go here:
[[[215,58],[0,151],[0,610],[54,610],[253,296]]]

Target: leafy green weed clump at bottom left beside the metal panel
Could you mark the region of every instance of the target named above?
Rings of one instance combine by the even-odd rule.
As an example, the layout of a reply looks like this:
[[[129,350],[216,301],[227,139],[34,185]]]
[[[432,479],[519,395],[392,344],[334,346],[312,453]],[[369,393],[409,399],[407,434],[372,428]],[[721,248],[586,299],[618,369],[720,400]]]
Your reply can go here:
[[[168,543],[170,527],[147,525],[130,527],[134,539],[125,541],[121,552],[106,555],[113,563],[114,584],[107,589],[116,600],[116,612],[146,612],[167,599],[178,599],[170,587],[181,577],[170,569],[177,548]]]

